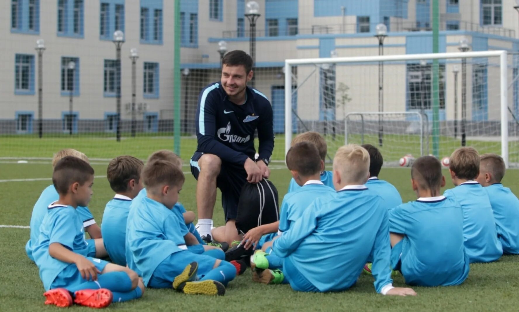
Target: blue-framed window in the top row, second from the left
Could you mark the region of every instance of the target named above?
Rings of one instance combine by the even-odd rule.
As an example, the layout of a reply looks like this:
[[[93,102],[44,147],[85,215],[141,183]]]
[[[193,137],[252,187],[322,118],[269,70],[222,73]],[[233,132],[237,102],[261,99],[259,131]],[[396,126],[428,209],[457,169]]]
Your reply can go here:
[[[83,38],[84,27],[84,0],[58,0],[58,36]]]

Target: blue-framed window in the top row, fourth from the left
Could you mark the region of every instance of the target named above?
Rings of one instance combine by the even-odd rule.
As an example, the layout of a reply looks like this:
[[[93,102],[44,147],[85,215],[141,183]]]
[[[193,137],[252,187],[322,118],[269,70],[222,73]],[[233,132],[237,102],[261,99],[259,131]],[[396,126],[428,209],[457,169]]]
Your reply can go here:
[[[140,31],[141,44],[162,44],[162,0],[141,0]]]

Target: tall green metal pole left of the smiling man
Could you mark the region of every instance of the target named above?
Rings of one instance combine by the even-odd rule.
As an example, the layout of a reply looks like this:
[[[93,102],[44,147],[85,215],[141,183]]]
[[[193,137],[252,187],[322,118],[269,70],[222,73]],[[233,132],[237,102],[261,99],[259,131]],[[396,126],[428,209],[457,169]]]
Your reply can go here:
[[[173,61],[173,149],[180,155],[180,0],[175,0],[175,47]]]

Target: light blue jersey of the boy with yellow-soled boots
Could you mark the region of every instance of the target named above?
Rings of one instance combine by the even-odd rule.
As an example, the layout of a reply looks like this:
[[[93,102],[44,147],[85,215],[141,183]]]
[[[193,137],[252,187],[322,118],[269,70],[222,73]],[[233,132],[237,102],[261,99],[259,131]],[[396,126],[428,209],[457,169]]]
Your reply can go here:
[[[126,261],[148,286],[155,268],[171,254],[186,250],[176,214],[163,204],[144,196],[132,201],[126,224]],[[184,224],[185,225],[185,224]]]

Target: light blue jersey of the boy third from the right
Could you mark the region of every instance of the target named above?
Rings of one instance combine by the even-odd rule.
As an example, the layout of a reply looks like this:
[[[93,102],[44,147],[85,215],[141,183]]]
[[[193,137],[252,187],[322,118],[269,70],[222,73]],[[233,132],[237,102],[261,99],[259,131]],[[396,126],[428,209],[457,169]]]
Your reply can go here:
[[[453,199],[418,198],[390,209],[389,231],[405,235],[397,257],[407,284],[459,285],[469,275],[469,257],[463,246],[463,211]]]

